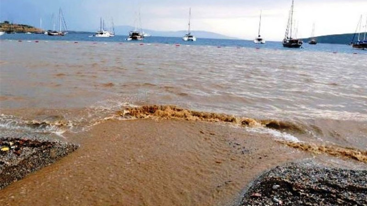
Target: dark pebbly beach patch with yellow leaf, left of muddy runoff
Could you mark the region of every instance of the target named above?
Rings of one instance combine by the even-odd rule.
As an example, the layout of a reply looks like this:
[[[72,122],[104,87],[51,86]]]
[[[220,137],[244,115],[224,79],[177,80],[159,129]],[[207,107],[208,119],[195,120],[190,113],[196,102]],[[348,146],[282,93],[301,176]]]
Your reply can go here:
[[[60,141],[0,137],[0,190],[65,157],[78,147]]]

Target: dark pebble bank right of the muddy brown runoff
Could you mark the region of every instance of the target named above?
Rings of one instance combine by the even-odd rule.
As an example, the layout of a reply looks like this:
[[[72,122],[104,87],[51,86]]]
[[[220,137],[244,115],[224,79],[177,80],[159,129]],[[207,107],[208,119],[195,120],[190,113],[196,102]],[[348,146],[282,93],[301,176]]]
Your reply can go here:
[[[237,206],[362,206],[367,204],[366,177],[367,170],[288,163],[253,181]]]

